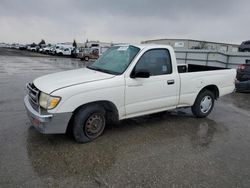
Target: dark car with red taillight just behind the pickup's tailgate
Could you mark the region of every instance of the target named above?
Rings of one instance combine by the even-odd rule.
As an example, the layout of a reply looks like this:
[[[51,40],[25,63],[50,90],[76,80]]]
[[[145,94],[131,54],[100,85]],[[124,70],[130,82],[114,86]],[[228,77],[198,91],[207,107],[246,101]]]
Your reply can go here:
[[[237,81],[235,83],[236,91],[248,92],[250,91],[250,61],[247,60],[246,64],[238,66]]]

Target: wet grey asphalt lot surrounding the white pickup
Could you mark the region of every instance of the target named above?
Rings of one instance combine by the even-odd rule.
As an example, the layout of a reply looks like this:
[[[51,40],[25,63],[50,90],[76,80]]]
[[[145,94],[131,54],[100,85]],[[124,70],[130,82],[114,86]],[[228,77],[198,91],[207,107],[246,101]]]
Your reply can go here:
[[[30,127],[25,84],[84,66],[0,49],[0,187],[250,187],[250,94],[222,97],[204,119],[179,109],[125,120],[88,144]]]

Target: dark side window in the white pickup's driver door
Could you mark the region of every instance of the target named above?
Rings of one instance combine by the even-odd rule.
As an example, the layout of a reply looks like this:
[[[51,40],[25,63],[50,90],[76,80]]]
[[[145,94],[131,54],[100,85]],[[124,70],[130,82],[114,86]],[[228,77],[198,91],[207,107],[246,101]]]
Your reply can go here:
[[[172,73],[172,63],[167,49],[153,49],[145,52],[138,63],[135,71],[147,70],[150,76]]]

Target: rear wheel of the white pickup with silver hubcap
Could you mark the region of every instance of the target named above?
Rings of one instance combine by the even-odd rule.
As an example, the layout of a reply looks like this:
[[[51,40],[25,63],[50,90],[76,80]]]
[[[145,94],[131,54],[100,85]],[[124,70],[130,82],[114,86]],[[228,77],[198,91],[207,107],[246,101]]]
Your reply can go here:
[[[192,112],[196,117],[203,118],[210,114],[214,107],[214,94],[204,90],[196,98]]]

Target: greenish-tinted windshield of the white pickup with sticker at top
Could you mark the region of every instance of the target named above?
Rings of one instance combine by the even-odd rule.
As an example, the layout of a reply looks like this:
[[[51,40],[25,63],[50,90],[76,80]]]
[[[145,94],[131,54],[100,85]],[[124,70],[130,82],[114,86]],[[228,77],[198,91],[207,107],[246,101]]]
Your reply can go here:
[[[103,53],[103,55],[87,68],[105,72],[108,74],[122,74],[134,57],[140,51],[135,46],[114,46]]]

